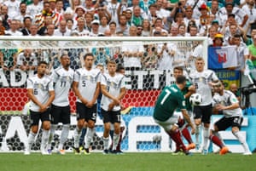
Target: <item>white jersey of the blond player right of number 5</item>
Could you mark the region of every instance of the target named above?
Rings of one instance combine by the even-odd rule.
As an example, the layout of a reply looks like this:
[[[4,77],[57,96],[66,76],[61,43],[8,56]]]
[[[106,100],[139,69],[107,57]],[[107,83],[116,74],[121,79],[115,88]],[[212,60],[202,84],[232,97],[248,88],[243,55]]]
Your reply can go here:
[[[107,90],[109,94],[112,94],[114,97],[119,97],[121,88],[125,88],[125,79],[124,75],[116,73],[113,77],[110,76],[108,73],[104,73],[102,75],[102,85],[105,85],[107,87]],[[113,100],[106,97],[104,94],[102,94],[102,101],[101,101],[101,107],[104,111],[108,111],[108,105]],[[121,109],[120,105],[115,105],[113,107],[112,111],[119,111]]]

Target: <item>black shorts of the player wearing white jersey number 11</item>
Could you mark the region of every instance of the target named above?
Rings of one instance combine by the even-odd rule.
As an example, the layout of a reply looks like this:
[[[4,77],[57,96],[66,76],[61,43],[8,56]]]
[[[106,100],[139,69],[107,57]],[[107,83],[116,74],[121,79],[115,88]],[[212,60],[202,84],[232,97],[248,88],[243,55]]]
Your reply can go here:
[[[51,105],[50,109],[50,123],[52,124],[70,124],[70,106],[56,106]]]

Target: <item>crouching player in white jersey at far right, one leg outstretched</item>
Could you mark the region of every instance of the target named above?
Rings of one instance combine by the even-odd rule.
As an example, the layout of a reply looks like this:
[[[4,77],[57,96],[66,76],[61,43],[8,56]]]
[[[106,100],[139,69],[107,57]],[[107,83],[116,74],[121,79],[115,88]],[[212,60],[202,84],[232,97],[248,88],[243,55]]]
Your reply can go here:
[[[220,81],[212,82],[212,88],[215,93],[212,97],[212,106],[218,111],[223,111],[224,114],[224,117],[214,123],[211,131],[212,134],[218,136],[220,139],[218,131],[224,131],[231,127],[232,134],[236,136],[236,139],[239,140],[244,148],[243,154],[252,155],[252,152],[249,150],[247,145],[247,141],[240,132],[243,117],[236,95],[230,90],[225,90],[223,83]]]

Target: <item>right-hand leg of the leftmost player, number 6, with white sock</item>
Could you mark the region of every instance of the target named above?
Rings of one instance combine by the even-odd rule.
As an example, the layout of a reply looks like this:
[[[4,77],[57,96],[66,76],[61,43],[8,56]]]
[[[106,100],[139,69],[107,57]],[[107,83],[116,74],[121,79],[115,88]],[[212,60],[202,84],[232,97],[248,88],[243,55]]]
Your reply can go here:
[[[48,155],[49,153],[47,151],[47,142],[49,140],[49,129],[50,129],[49,109],[42,112],[40,115],[41,115],[42,128],[43,128],[40,149],[43,155]]]

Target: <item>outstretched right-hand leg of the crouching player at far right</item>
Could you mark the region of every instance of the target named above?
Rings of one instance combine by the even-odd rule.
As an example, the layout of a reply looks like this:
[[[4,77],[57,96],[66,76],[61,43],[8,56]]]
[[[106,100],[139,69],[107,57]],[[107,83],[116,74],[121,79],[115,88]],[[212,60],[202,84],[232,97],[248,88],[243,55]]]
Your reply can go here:
[[[247,145],[246,139],[244,138],[244,136],[242,136],[240,132],[242,120],[242,117],[234,117],[232,123],[232,134],[234,134],[236,136],[236,139],[239,140],[239,142],[241,143],[244,149],[243,155],[252,155],[252,152],[250,151],[249,146]]]

